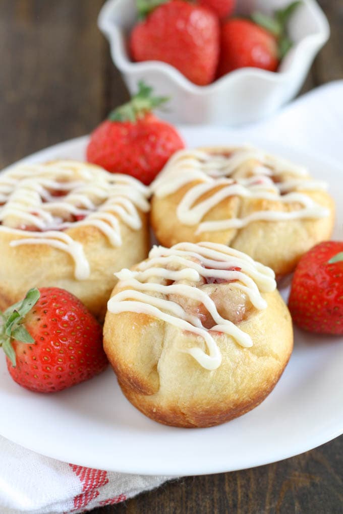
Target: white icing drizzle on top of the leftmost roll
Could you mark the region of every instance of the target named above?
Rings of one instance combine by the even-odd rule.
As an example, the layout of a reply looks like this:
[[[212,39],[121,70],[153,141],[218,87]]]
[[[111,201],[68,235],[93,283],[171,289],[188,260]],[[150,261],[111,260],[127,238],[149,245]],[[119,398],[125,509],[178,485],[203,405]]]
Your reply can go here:
[[[90,269],[83,246],[65,230],[93,225],[120,246],[120,223],[139,230],[148,197],[135,178],[83,162],[21,164],[0,175],[0,230],[17,236],[10,246],[46,244],[69,253],[75,277],[84,280]]]

